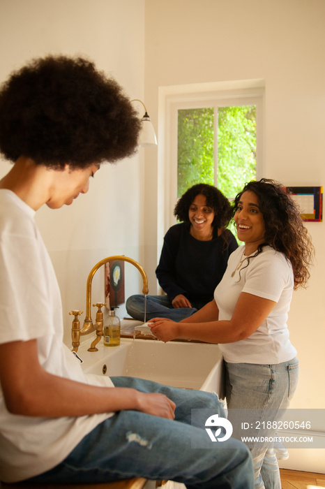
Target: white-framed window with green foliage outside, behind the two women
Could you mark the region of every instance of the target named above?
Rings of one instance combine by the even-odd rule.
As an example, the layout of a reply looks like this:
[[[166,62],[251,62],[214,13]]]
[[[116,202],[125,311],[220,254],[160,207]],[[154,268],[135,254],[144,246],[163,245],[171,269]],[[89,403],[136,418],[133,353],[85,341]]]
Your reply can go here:
[[[214,184],[232,199],[245,182],[264,176],[264,82],[160,87],[160,108],[165,145],[158,155],[158,203],[160,212],[162,205],[165,210],[163,234],[176,222],[177,199],[193,184]]]

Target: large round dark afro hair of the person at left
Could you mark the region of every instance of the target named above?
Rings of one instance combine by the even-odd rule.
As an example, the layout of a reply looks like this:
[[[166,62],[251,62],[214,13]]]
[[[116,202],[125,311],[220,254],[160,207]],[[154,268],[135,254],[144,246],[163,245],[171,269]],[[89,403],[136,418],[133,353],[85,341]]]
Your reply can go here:
[[[119,84],[82,57],[34,59],[0,89],[0,152],[84,168],[137,148],[141,122]]]

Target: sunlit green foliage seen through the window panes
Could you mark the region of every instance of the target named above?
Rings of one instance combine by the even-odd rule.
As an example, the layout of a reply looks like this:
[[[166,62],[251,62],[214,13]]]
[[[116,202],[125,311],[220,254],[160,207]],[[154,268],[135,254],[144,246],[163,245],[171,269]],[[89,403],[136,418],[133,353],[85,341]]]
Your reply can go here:
[[[192,185],[214,184],[214,109],[179,110],[177,197]],[[234,198],[256,177],[256,107],[218,108],[218,189]]]

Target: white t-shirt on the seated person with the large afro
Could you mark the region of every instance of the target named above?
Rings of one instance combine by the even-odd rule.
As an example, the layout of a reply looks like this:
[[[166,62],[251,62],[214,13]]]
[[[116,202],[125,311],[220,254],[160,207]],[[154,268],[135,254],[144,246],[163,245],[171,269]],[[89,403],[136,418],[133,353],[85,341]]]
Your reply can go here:
[[[59,286],[34,214],[12,191],[0,189],[0,343],[36,338],[40,365],[47,372],[112,387],[106,377],[84,375],[63,344]],[[20,481],[51,469],[112,415],[14,415],[6,409],[0,388],[0,480]]]

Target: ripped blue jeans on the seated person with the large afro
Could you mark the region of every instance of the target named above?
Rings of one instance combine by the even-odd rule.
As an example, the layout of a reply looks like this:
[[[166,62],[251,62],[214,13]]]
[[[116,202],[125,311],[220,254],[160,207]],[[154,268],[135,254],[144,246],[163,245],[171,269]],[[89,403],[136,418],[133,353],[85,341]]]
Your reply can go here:
[[[215,394],[133,377],[112,381],[119,387],[164,393],[176,403],[175,420],[139,411],[116,412],[86,435],[66,460],[29,482],[103,483],[144,477],[193,489],[253,489],[252,459],[241,441],[230,438],[216,447],[191,448],[193,436],[206,439],[204,429],[190,424],[192,408],[210,408],[225,416]]]

